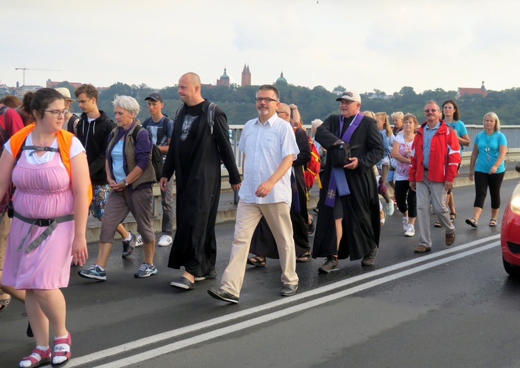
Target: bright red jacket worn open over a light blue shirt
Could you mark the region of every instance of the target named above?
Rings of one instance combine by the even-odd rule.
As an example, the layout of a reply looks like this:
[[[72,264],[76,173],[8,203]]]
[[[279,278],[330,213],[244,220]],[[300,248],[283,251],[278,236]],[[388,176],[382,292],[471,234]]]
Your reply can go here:
[[[424,179],[424,126],[415,134],[412,144],[412,156],[409,165],[409,181],[422,181]],[[431,138],[430,161],[428,167],[428,180],[444,183],[451,181],[457,176],[458,165],[460,164],[460,146],[456,132],[441,120],[439,130]]]

